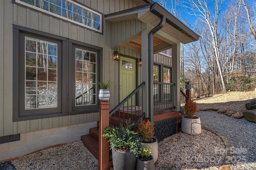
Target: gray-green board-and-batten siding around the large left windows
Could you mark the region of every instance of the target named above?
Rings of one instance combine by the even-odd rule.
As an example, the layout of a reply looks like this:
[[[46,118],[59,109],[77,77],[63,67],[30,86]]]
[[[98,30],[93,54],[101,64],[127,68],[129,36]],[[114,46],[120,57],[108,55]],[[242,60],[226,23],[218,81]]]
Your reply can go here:
[[[109,14],[135,7],[129,0],[78,0],[78,2],[93,8],[103,14]],[[104,18],[104,17],[103,17]],[[24,8],[12,3],[12,0],[0,0],[0,136],[26,133],[43,129],[64,127],[79,123],[98,120],[98,113],[68,115],[46,119],[12,122],[12,24],[59,35],[83,43],[103,48],[103,80],[112,80],[116,85],[118,80],[118,62],[112,59],[110,33],[112,25],[103,20],[103,35],[81,26],[68,23],[52,16]],[[120,53],[130,56],[140,56],[138,51],[121,48]],[[112,85],[110,99],[114,107],[118,100],[118,91]]]

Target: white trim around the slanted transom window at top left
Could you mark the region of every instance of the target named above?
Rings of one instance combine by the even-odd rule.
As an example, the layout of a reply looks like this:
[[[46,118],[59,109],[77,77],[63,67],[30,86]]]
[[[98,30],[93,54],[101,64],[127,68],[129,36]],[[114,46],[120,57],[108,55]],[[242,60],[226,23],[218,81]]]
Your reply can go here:
[[[30,8],[33,8],[33,9],[35,9],[35,10],[38,10],[38,11],[41,11],[41,12],[44,12],[44,13],[51,14],[52,16],[56,16],[57,18],[62,18],[63,20],[70,21],[70,22],[72,22],[72,23],[81,25],[82,27],[87,27],[87,28],[89,28],[89,29],[92,29],[92,30],[94,30],[94,31],[97,31],[97,32],[102,33],[102,14],[100,14],[100,13],[94,11],[94,10],[91,10],[90,8],[87,8],[86,6],[82,6],[81,4],[78,4],[78,3],[75,2],[75,1],[72,1],[72,0],[66,0],[66,1],[71,2],[71,3],[73,3],[73,4],[76,4],[77,6],[80,6],[81,8],[84,8],[84,9],[90,11],[90,12],[93,12],[93,13],[95,13],[95,14],[98,14],[98,15],[100,16],[100,29],[95,29],[95,28],[93,28],[93,27],[89,27],[88,25],[84,25],[84,24],[82,24],[82,23],[76,22],[76,21],[74,21],[74,20],[70,20],[70,19],[68,19],[68,18],[65,18],[65,17],[63,17],[63,16],[54,14],[54,13],[49,12],[49,11],[46,11],[46,10],[44,10],[44,9],[37,8],[36,6],[27,4],[27,3],[22,2],[22,1],[20,1],[20,0],[15,0],[15,2],[18,3],[18,4],[22,4],[22,5],[24,5],[24,6],[29,6]]]

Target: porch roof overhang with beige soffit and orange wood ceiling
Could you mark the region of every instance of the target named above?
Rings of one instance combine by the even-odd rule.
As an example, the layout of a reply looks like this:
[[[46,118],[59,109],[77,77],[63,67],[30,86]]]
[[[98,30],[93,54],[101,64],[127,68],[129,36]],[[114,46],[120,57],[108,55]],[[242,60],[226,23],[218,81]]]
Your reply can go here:
[[[183,44],[197,41],[199,36],[188,28],[184,23],[166,11],[162,6],[157,3],[152,4],[151,0],[131,0],[133,3],[140,5],[135,8],[130,8],[120,12],[105,15],[105,20],[110,22],[126,21],[126,20],[141,20],[144,23],[155,27],[160,22],[161,16],[166,16],[166,23],[160,31],[163,33],[164,38],[171,37],[171,41],[178,40]],[[163,39],[164,39],[163,38]],[[171,47],[170,41],[154,36],[154,53],[157,50],[160,52]],[[124,45],[141,51],[141,36],[138,36]],[[162,47],[162,49],[161,49]]]

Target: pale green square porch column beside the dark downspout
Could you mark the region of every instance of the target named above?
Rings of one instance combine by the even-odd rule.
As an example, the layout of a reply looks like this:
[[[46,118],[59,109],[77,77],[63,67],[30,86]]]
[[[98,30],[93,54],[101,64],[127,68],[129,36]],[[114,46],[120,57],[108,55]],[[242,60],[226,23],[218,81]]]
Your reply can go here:
[[[146,113],[145,117],[149,117],[148,115],[148,33],[149,33],[149,28],[147,25],[147,28],[144,29],[141,32],[141,60],[142,60],[142,65],[141,65],[141,75],[142,75],[142,82],[145,82],[145,85],[142,87],[142,93],[143,93],[143,101],[142,101],[142,106],[143,110],[142,113]]]

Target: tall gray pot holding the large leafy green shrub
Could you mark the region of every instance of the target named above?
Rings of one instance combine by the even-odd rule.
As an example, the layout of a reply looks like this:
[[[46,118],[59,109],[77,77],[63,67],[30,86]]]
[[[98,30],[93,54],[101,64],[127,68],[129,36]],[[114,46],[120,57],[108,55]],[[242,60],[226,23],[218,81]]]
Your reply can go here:
[[[132,151],[120,152],[112,149],[114,170],[135,170],[137,157]]]

